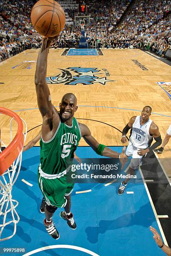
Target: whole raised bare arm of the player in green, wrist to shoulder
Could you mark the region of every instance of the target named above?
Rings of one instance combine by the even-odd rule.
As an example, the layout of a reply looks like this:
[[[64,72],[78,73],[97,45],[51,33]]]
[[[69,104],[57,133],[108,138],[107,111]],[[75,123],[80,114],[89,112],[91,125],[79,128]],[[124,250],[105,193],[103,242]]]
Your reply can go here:
[[[44,141],[53,137],[60,122],[58,111],[52,105],[50,90],[46,83],[48,52],[53,39],[43,37],[35,71],[35,87],[38,108],[43,118],[42,136]]]

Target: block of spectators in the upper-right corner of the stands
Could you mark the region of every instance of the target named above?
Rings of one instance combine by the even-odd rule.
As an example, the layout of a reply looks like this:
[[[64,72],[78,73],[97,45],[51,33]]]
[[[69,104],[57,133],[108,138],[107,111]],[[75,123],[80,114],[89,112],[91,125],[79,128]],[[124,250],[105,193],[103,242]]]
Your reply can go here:
[[[118,30],[141,35],[161,33],[160,22],[171,11],[171,0],[136,0]],[[157,24],[157,26],[156,26]]]

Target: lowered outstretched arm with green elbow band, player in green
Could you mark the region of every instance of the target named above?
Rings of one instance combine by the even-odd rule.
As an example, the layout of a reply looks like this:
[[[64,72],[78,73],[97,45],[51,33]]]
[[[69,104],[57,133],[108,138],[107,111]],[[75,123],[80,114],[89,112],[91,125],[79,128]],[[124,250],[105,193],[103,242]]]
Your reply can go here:
[[[82,123],[80,123],[79,125],[83,139],[89,146],[91,146],[91,148],[93,148],[93,150],[97,154],[111,158],[120,158],[122,167],[124,166],[128,159],[128,157],[125,154],[126,147],[123,147],[122,153],[119,154],[118,152],[111,150],[111,148],[108,148],[107,146],[102,145],[98,141],[96,141],[96,139],[91,135],[91,131],[89,130],[87,125],[84,125]]]

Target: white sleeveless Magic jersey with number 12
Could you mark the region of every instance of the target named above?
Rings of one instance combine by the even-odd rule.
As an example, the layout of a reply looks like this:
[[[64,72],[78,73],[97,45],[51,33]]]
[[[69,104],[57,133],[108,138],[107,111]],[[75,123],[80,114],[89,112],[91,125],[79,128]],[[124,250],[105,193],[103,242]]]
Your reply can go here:
[[[148,143],[153,138],[153,136],[149,134],[149,128],[153,121],[148,119],[145,124],[141,125],[140,119],[141,116],[138,115],[133,123],[130,141],[133,143],[133,146],[137,148],[148,148]]]

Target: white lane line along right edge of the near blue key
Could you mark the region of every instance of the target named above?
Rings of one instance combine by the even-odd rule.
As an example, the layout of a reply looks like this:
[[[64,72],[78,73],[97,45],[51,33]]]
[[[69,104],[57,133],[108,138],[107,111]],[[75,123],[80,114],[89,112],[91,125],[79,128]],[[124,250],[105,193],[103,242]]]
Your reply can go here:
[[[151,207],[152,207],[152,209],[153,209],[154,216],[155,216],[156,221],[157,221],[157,224],[158,224],[158,228],[159,228],[159,230],[160,230],[160,232],[161,232],[161,236],[162,236],[162,238],[163,238],[163,242],[164,242],[164,244],[165,244],[166,246],[168,246],[168,243],[167,243],[167,241],[166,241],[166,237],[165,237],[164,232],[163,232],[163,229],[162,229],[162,227],[161,227],[160,220],[159,220],[159,218],[158,218],[156,209],[155,209],[154,204],[153,204],[153,201],[152,201],[152,199],[151,199],[151,195],[150,195],[150,192],[149,192],[149,190],[148,190],[148,187],[147,187],[147,184],[146,184],[146,182],[145,182],[145,179],[144,179],[144,177],[143,177],[143,173],[142,173],[142,171],[141,171],[141,168],[139,167],[138,170],[139,170],[139,172],[140,172],[140,174],[141,174],[141,178],[142,178],[142,180],[143,180],[144,187],[146,188],[146,192],[147,192],[147,195],[148,195],[148,199],[149,199],[149,201],[150,201],[150,203],[151,203]]]

